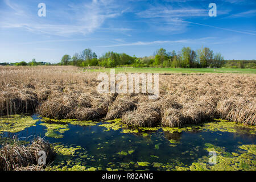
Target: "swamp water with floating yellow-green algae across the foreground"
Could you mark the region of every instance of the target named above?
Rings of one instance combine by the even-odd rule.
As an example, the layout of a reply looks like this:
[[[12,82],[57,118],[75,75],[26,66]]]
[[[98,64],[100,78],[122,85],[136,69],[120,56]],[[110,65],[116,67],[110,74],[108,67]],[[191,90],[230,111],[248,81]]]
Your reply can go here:
[[[214,119],[183,128],[129,129],[108,122],[0,117],[0,145],[44,137],[57,155],[48,170],[256,170],[256,128]],[[216,164],[209,164],[216,152]]]

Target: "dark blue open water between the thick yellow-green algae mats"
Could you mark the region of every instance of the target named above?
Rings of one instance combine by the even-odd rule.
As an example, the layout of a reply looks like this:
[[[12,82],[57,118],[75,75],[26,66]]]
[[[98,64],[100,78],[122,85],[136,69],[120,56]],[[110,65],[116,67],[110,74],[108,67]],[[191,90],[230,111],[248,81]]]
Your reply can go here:
[[[176,166],[191,166],[199,158],[208,156],[209,151],[205,150],[207,143],[225,147],[225,152],[232,153],[237,152],[243,144],[255,144],[256,139],[256,135],[249,132],[219,130],[195,129],[170,133],[159,128],[144,134],[121,133],[122,128],[106,131],[106,127],[99,126],[104,122],[97,122],[95,126],[67,123],[69,130],[62,133],[63,138],[52,138],[45,137],[47,127],[40,125],[43,123],[41,118],[38,115],[32,115],[32,118],[39,119],[36,126],[27,127],[18,133],[3,132],[1,138],[15,135],[20,140],[30,140],[40,136],[50,143],[63,144],[62,147],[68,151],[70,147],[79,146],[75,154],[58,155],[52,169],[172,170]]]

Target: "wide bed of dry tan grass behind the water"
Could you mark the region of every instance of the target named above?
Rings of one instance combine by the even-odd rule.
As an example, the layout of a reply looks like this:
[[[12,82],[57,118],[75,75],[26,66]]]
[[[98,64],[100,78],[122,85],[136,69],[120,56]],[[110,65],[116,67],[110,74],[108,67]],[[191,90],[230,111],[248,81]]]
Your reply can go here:
[[[114,119],[135,126],[182,126],[221,117],[255,125],[256,76],[232,73],[159,76],[159,99],[100,94],[97,72],[76,67],[0,67],[0,114]]]

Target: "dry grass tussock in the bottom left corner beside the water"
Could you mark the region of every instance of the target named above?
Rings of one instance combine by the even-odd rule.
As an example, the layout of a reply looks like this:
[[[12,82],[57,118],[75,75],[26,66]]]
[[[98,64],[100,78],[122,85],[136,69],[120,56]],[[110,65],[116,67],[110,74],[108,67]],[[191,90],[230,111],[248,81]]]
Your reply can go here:
[[[52,161],[53,147],[44,139],[38,137],[28,145],[14,139],[13,144],[5,144],[0,148],[0,171],[12,170],[42,170],[38,164],[38,152],[46,152],[46,164]]]

